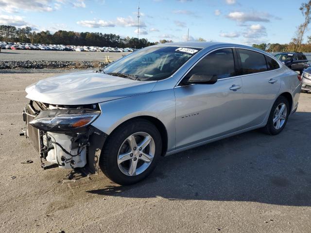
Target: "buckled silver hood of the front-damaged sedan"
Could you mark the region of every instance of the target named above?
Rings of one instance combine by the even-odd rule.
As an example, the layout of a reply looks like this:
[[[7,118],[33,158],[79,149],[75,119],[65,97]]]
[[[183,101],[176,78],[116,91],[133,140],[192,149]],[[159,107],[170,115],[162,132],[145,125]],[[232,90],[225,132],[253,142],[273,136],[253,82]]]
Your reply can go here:
[[[91,104],[148,93],[155,83],[87,71],[40,80],[26,87],[26,98],[58,105]]]

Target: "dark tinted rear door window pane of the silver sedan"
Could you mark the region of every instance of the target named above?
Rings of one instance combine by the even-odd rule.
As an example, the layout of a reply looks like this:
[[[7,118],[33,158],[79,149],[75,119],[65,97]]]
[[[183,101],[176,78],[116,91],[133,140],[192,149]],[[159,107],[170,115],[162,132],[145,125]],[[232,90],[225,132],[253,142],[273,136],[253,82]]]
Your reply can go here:
[[[266,59],[262,53],[237,49],[241,61],[242,74],[254,74],[267,71]]]

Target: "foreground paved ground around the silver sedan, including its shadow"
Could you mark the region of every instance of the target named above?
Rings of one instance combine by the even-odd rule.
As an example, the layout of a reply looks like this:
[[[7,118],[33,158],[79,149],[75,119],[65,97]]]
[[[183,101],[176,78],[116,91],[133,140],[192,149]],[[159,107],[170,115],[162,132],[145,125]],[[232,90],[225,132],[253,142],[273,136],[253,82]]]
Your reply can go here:
[[[103,174],[59,183],[68,171],[43,171],[18,135],[24,88],[51,75],[0,74],[1,233],[311,232],[311,94],[279,135],[252,131],[162,158],[132,186]]]

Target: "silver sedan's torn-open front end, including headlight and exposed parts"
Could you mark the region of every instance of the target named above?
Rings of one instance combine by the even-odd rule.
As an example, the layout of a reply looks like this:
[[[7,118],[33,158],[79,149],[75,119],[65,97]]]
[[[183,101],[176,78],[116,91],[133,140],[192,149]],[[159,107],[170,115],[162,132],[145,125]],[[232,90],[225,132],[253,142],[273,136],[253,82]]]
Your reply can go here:
[[[100,116],[98,104],[52,105],[31,100],[23,111],[25,135],[39,152],[41,166],[87,167],[98,171],[106,134],[91,126]]]

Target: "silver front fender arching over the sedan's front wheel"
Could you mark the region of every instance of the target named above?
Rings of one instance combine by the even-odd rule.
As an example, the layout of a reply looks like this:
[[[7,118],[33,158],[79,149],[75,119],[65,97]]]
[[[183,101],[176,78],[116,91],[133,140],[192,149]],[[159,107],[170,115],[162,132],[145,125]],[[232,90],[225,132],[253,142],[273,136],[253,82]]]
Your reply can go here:
[[[175,149],[175,97],[173,89],[155,91],[118,100],[99,103],[102,110],[92,126],[106,134],[123,122],[138,116],[160,120],[168,133],[168,151]]]

